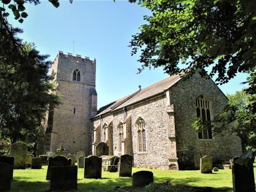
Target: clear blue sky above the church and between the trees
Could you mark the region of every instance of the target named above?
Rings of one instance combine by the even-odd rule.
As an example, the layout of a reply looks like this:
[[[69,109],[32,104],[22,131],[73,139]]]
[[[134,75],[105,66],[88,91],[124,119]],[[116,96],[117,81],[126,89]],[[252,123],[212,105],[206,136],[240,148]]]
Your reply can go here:
[[[150,14],[138,4],[127,1],[77,1],[72,4],[60,1],[54,8],[48,1],[27,6],[28,17],[19,24],[9,17],[13,26],[24,29],[20,37],[35,42],[42,54],[49,54],[53,60],[58,51],[73,51],[82,57],[97,60],[96,89],[98,108],[124,97],[150,84],[168,77],[162,68],[144,70],[136,74],[141,64],[138,56],[131,56],[127,47],[131,36],[138,32],[143,15]],[[220,86],[226,93],[240,91],[246,75],[239,74],[228,84]]]

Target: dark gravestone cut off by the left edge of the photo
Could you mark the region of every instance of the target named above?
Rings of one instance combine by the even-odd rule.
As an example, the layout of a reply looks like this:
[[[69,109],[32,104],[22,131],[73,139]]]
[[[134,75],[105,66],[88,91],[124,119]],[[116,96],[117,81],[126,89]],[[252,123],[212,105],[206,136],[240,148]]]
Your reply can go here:
[[[0,191],[10,191],[13,167],[10,164],[0,162]]]

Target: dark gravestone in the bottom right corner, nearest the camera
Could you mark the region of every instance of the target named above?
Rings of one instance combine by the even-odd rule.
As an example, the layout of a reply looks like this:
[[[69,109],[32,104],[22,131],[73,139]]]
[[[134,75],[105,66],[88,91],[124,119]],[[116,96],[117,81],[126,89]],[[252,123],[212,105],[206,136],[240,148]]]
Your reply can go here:
[[[239,157],[232,159],[232,180],[234,192],[255,192],[253,161],[246,164],[237,162]]]

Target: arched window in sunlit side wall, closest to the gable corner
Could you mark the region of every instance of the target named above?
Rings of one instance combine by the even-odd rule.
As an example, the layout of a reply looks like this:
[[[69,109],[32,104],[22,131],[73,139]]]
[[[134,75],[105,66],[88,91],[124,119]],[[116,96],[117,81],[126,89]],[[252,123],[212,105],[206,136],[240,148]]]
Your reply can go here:
[[[136,121],[136,127],[138,131],[138,152],[146,152],[146,131],[145,122],[142,118],[138,118]]]

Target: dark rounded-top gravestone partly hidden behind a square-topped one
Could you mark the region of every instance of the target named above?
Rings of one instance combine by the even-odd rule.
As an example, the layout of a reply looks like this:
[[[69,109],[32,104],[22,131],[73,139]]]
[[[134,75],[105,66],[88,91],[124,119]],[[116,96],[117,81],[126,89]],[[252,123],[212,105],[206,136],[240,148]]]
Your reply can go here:
[[[50,157],[48,161],[46,180],[51,180],[51,167],[52,166],[70,166],[71,161],[64,156]]]

